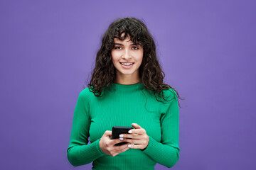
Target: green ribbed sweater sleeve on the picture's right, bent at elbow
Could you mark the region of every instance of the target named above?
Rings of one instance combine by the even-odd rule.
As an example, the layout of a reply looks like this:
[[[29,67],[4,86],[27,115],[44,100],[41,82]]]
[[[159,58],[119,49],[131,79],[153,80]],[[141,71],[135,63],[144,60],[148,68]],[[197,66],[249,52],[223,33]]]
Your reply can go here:
[[[175,94],[176,92],[173,91]],[[171,101],[160,106],[161,111],[161,142],[149,136],[149,144],[144,149],[145,154],[149,155],[157,163],[171,168],[178,162],[180,148],[178,147],[178,99],[171,93]],[[171,98],[167,98],[170,100]]]

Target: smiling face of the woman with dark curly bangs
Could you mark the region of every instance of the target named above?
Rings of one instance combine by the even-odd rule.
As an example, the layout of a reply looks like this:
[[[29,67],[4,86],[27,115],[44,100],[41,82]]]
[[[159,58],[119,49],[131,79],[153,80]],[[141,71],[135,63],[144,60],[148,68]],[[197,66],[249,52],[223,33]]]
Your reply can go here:
[[[114,48],[111,51],[111,55],[114,67],[117,69],[117,77],[129,75],[131,79],[139,78],[139,66],[142,64],[143,48],[140,45],[134,45],[129,40],[129,35],[124,40],[114,38]]]

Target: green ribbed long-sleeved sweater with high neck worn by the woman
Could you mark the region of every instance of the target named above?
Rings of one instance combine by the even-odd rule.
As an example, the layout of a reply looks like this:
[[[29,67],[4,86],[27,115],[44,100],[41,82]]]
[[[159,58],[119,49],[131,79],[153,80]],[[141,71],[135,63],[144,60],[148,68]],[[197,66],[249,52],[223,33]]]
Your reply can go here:
[[[164,90],[167,96],[161,103],[154,92],[137,84],[112,83],[110,91],[96,97],[89,88],[83,89],[75,106],[68,161],[73,166],[92,163],[92,169],[154,169],[156,163],[172,167],[179,158],[178,100],[172,89]],[[172,92],[171,92],[172,91]],[[143,94],[144,93],[144,94]],[[174,95],[175,93],[175,95]],[[146,130],[149,145],[141,149],[128,149],[112,157],[100,149],[100,138],[113,126],[137,123]],[[88,143],[90,137],[90,144]]]

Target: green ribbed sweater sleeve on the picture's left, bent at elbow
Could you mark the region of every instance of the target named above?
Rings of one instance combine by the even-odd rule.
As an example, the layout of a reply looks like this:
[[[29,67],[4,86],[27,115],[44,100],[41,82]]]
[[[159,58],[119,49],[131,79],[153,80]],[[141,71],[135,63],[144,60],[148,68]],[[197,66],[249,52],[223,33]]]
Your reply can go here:
[[[100,149],[100,139],[88,143],[90,130],[90,105],[87,89],[80,92],[75,105],[70,144],[67,149],[68,161],[73,166],[89,164],[95,159],[107,155]]]

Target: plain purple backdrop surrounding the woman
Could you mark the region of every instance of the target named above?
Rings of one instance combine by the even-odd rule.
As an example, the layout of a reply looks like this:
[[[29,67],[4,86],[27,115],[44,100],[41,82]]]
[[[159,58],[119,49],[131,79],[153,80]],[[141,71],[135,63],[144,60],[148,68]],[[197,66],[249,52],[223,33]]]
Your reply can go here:
[[[90,169],[67,159],[100,38],[144,19],[181,97],[173,169],[256,169],[254,1],[1,1],[0,169]],[[168,169],[156,164],[156,169]]]

